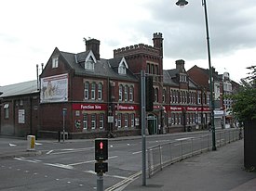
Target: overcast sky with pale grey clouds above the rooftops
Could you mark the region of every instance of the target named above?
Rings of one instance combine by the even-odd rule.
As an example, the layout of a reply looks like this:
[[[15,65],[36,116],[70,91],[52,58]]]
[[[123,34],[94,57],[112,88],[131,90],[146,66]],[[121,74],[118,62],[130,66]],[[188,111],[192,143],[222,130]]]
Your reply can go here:
[[[55,47],[79,53],[83,38],[101,41],[102,58],[128,45],[153,45],[164,37],[164,69],[184,59],[185,69],[208,69],[201,0],[7,0],[0,7],[0,85],[36,79]],[[239,82],[256,62],[256,1],[207,0],[211,64]]]

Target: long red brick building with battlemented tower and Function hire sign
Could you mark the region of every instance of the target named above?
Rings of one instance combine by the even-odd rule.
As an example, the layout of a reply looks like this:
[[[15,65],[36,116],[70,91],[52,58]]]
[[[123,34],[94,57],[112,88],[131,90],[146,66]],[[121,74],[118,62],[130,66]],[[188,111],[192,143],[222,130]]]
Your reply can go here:
[[[154,33],[153,46],[118,48],[111,59],[101,58],[99,40],[89,39],[86,47],[77,54],[54,49],[40,75],[40,104],[37,91],[34,106],[37,123],[26,134],[57,137],[63,129],[71,138],[141,134],[141,70],[154,78],[154,110],[147,112],[146,122],[149,134],[197,130],[208,124],[209,89],[191,79],[182,59],[174,69],[163,70],[162,33]],[[11,97],[3,97],[1,104],[5,132],[7,98]]]

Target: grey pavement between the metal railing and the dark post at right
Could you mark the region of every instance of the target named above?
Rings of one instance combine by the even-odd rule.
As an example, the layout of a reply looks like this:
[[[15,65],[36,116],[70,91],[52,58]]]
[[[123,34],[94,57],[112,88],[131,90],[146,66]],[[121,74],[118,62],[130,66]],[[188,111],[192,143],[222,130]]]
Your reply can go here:
[[[244,140],[174,163],[142,185],[141,176],[120,190],[255,191],[256,172],[244,168]]]

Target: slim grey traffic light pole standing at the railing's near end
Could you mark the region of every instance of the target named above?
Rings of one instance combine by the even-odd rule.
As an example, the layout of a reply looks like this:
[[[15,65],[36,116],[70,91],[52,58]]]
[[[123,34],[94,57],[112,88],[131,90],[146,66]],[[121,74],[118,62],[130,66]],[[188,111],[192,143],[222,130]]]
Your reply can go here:
[[[142,185],[146,185],[146,101],[145,101],[145,70],[141,70],[141,138],[142,138]]]

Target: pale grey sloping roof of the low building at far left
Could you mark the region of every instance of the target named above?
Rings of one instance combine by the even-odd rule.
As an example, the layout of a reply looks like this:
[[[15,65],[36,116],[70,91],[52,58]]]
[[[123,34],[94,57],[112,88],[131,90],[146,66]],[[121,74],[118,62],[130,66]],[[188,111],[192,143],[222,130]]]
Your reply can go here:
[[[3,94],[0,97],[7,96],[20,96],[38,93],[37,81],[29,81],[25,83],[15,83],[10,85],[5,85],[0,87],[0,92]]]

